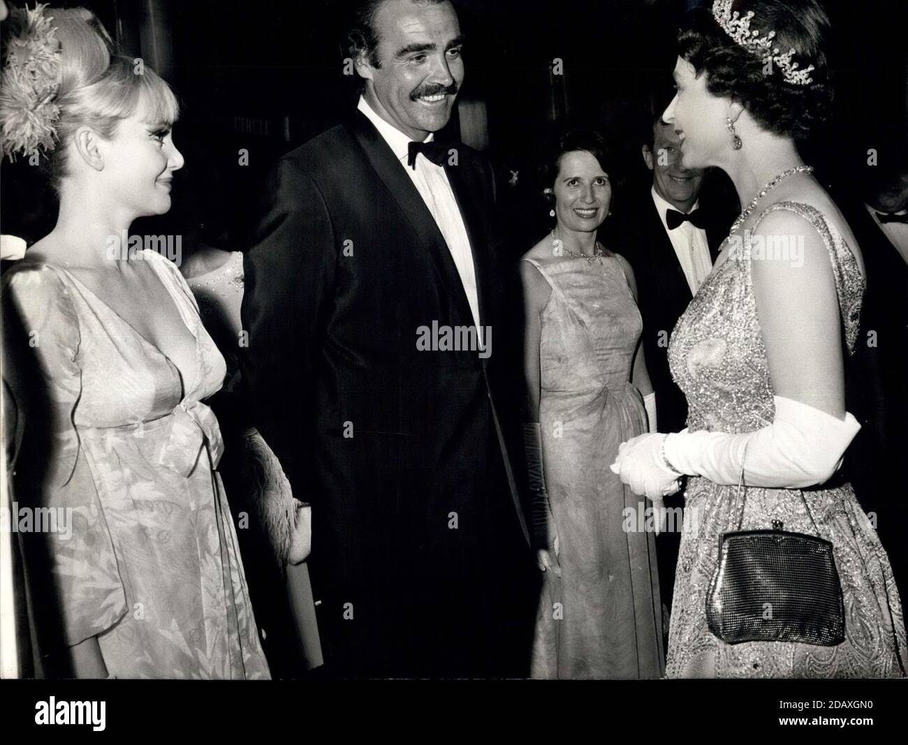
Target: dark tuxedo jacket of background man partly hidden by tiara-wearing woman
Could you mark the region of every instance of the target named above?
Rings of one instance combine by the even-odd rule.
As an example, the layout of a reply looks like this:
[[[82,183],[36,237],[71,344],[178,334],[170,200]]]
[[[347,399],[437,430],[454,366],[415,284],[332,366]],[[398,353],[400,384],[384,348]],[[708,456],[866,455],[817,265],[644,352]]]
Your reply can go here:
[[[706,242],[715,264],[731,219],[722,212],[707,215]],[[610,248],[630,262],[637,279],[643,348],[656,391],[659,431],[677,432],[686,426],[687,402],[668,368],[668,339],[693,295],[648,188],[639,198],[626,202],[614,220]]]

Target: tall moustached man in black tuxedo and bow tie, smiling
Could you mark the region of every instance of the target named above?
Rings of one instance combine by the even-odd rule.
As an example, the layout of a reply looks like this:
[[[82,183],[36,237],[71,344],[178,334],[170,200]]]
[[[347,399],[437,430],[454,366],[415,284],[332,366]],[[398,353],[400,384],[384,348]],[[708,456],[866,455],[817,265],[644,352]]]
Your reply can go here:
[[[461,44],[449,2],[363,4],[358,112],[281,159],[245,257],[244,373],[312,506],[331,675],[528,671],[534,563],[491,382],[492,170],[432,134]]]

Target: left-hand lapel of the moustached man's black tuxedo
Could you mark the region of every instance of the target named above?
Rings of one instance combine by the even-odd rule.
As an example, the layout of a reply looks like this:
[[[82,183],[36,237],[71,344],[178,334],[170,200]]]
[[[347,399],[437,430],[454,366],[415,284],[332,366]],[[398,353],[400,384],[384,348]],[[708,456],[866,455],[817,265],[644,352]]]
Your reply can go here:
[[[463,282],[454,259],[441,230],[436,224],[432,213],[422,201],[416,186],[404,172],[394,152],[387,142],[381,137],[378,130],[372,126],[366,116],[357,112],[350,121],[350,131],[360,144],[372,168],[378,174],[391,196],[397,201],[400,211],[410,222],[413,230],[419,236],[422,246],[429,252],[429,257],[439,283],[448,294],[455,309],[458,319],[452,319],[456,325],[472,326],[473,314],[469,309],[467,293],[463,289]],[[439,319],[440,321],[441,319]]]

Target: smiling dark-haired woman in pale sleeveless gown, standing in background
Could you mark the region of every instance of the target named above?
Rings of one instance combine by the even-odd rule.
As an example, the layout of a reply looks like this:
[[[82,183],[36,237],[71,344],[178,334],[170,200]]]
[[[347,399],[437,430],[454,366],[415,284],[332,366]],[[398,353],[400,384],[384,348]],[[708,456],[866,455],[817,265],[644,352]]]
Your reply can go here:
[[[643,397],[652,394],[633,273],[596,240],[613,162],[594,132],[567,132],[556,149],[546,182],[557,225],[520,266],[524,440],[542,571],[530,674],[658,678],[665,658],[652,508],[608,470],[618,445],[646,431]]]

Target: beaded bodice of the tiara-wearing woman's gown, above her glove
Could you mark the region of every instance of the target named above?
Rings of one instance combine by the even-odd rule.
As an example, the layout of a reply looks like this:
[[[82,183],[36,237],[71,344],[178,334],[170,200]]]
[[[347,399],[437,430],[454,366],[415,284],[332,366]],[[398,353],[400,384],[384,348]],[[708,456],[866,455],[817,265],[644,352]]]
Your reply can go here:
[[[864,295],[857,260],[835,226],[808,204],[776,202],[761,213],[754,227],[780,210],[809,221],[824,242],[833,267],[844,343],[851,353]],[[751,260],[769,249],[752,244],[749,238],[750,232],[745,233],[742,250],[728,250],[735,245],[736,235],[725,239],[727,259],[706,278],[672,333],[668,360],[672,377],[687,397],[691,431],[751,432],[770,424],[775,416],[751,276]]]

